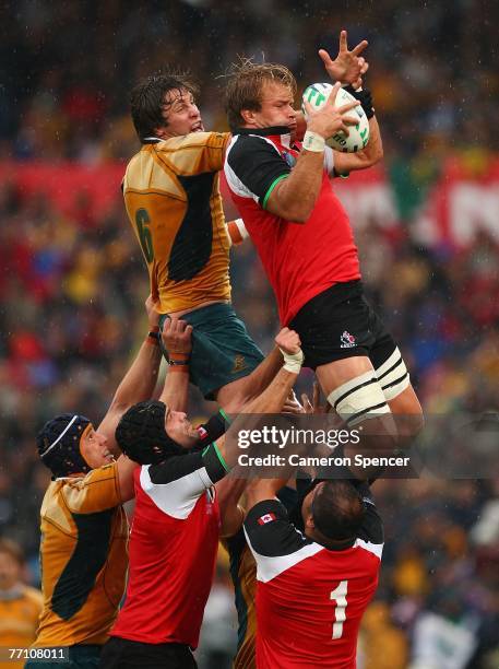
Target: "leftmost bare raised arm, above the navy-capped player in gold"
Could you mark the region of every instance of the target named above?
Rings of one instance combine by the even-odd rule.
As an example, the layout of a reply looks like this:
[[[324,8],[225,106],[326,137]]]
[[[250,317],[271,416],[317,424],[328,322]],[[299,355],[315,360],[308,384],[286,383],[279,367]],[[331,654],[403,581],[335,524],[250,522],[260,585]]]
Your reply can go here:
[[[110,450],[117,449],[115,430],[121,415],[132,404],[150,399],[157,382],[162,351],[157,340],[158,314],[151,295],[146,300],[145,307],[147,310],[148,329],[153,334],[147,334],[142,343],[139,353],[118,386],[111,404],[97,429],[97,432],[107,437]]]

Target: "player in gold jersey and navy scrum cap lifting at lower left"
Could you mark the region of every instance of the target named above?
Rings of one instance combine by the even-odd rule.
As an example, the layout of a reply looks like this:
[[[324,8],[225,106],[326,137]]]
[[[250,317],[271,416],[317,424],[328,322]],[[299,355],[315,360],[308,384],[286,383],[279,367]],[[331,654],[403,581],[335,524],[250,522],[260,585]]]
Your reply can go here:
[[[146,302],[150,333],[124,375],[97,429],[79,413],[48,421],[38,451],[51,473],[41,504],[41,589],[44,609],[35,648],[69,647],[69,664],[96,667],[102,645],[118,613],[128,568],[128,523],[123,502],[133,496],[135,463],[118,450],[115,430],[135,402],[152,397],[162,354],[157,318]],[[26,667],[49,666],[28,660]]]

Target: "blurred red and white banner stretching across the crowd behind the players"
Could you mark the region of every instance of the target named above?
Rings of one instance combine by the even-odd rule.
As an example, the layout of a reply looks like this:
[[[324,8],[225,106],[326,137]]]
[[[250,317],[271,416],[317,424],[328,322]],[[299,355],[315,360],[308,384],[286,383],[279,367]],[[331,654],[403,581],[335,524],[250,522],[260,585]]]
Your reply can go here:
[[[73,163],[54,166],[0,163],[0,177],[4,185],[16,186],[21,196],[46,193],[68,216],[92,221],[116,206],[122,207],[120,186],[124,168],[121,163],[97,167]],[[384,230],[400,225],[383,169],[353,173],[347,179],[334,179],[333,187],[355,230],[369,224]],[[223,178],[221,188],[227,216],[236,218]],[[499,161],[490,162],[478,174],[476,168],[472,173],[463,162],[450,160],[411,223],[411,233],[416,242],[429,247],[466,247],[483,233],[499,244]]]

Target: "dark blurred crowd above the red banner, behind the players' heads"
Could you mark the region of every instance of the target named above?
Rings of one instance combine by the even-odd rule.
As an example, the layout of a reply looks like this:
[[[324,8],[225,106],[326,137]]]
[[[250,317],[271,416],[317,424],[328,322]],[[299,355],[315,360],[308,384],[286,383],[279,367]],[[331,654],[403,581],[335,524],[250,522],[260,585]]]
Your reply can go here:
[[[2,3],[0,16],[3,157],[130,155],[129,92],[166,66],[192,70],[205,126],[222,129],[221,75],[239,55],[284,62],[302,90],[323,79],[317,50],[334,57],[342,27],[351,46],[369,40],[367,81],[393,160],[499,148],[489,122],[499,5],[486,0],[21,0]]]

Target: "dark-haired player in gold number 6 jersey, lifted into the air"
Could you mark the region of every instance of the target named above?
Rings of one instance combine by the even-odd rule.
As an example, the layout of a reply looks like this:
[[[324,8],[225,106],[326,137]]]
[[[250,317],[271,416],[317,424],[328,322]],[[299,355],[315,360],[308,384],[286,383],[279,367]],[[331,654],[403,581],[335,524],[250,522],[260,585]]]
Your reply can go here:
[[[204,131],[195,93],[183,74],[150,77],[133,90],[142,149],[127,167],[123,196],[161,326],[180,317],[193,326],[190,380],[237,411],[268,385],[282,357],[276,350],[260,365],[263,355],[230,305],[230,240],[218,189],[230,136]]]

